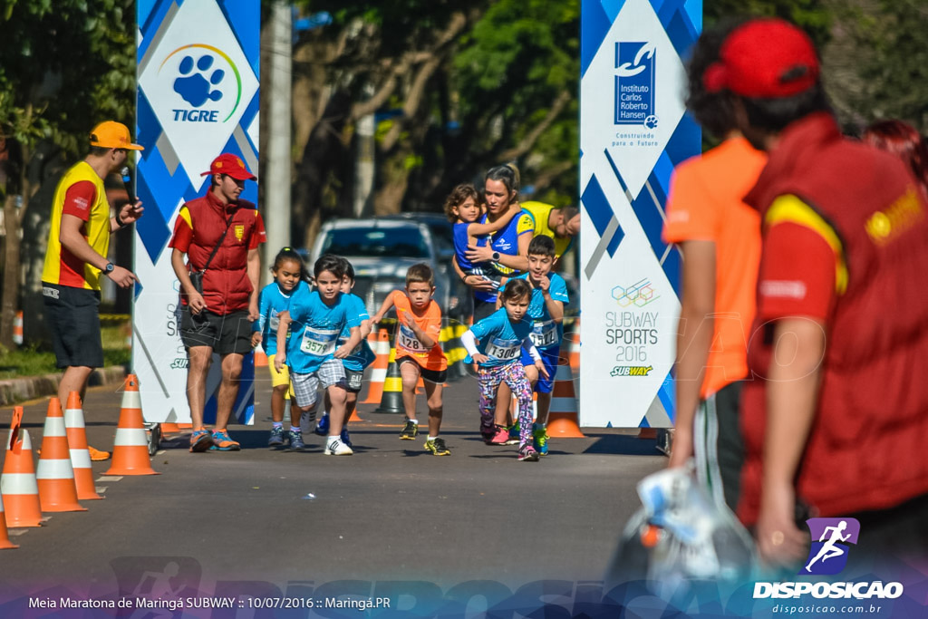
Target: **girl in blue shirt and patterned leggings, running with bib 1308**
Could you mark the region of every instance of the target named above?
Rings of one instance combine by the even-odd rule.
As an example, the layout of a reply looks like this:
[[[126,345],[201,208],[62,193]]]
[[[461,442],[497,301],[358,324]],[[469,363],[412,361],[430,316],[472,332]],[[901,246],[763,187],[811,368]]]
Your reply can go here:
[[[514,279],[499,296],[503,306],[461,336],[468,355],[480,366],[480,433],[488,445],[505,445],[509,439],[506,428],[493,423],[496,389],[500,382],[505,382],[519,400],[519,459],[536,462],[538,452],[532,446],[532,387],[522,368],[522,347],[532,355],[542,376],[548,378],[548,370],[530,337],[533,320],[528,317],[528,305],[532,288],[524,279]]]

